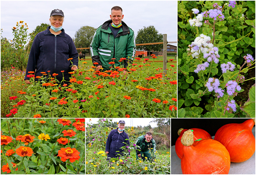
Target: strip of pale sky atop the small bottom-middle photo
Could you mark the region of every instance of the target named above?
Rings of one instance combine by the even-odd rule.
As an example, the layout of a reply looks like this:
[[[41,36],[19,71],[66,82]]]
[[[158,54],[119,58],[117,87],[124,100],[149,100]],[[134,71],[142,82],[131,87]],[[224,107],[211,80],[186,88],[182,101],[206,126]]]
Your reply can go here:
[[[85,123],[97,123],[97,121],[99,120],[98,118],[90,118],[90,119],[85,118]],[[112,122],[119,122],[120,120],[124,120],[125,126],[137,127],[141,125],[143,127],[143,126],[148,126],[148,124],[150,124],[152,128],[156,127],[156,123],[149,123],[151,121],[154,121],[152,118],[132,118],[132,119],[131,118],[112,118],[112,119],[113,119]],[[101,120],[103,120],[103,118]],[[132,123],[131,123],[131,120],[133,120]]]

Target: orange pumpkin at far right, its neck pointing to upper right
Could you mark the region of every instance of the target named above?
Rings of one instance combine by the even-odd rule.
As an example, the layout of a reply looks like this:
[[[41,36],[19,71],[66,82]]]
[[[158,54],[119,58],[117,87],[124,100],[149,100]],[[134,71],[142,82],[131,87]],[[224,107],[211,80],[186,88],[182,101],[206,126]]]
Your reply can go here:
[[[231,162],[244,162],[254,154],[255,138],[252,134],[254,123],[253,119],[244,123],[230,123],[216,132],[214,140],[227,148]]]

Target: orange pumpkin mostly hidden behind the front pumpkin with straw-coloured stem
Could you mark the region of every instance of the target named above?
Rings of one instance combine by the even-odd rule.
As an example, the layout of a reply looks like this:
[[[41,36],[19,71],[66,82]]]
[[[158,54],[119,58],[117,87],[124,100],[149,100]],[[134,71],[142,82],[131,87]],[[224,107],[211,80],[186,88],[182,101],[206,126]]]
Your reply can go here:
[[[191,128],[190,130],[193,130],[193,134],[194,134],[194,141],[195,140],[198,140],[198,139],[212,139],[211,135],[207,132],[207,131],[204,131],[202,129],[199,129],[199,128]],[[182,157],[182,147],[183,145],[181,144],[180,140],[181,140],[181,137],[183,136],[183,133],[185,131],[188,131],[188,129],[183,129],[183,128],[180,128],[179,131],[178,131],[178,139],[176,140],[176,143],[175,143],[175,151],[176,151],[176,154],[178,155],[178,157],[181,159]]]

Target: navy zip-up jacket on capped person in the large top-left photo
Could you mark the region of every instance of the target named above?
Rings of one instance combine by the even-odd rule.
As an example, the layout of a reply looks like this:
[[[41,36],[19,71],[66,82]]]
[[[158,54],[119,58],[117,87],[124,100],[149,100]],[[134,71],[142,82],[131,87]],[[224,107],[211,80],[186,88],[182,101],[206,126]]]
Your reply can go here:
[[[53,73],[59,74],[56,76],[56,79],[62,81],[62,70],[64,70],[64,80],[69,81],[71,74],[71,61],[73,65],[78,66],[78,53],[76,51],[76,46],[72,38],[67,35],[62,29],[59,35],[53,35],[50,32],[50,26],[38,33],[33,41],[31,50],[28,57],[28,65],[25,75],[25,80],[28,80],[27,77],[29,71],[35,72],[36,76],[43,76],[41,72],[50,71],[50,75]],[[73,58],[73,60],[68,60]],[[35,81],[38,81],[35,78]],[[68,83],[68,82],[64,82]],[[63,83],[62,83],[63,84]]]

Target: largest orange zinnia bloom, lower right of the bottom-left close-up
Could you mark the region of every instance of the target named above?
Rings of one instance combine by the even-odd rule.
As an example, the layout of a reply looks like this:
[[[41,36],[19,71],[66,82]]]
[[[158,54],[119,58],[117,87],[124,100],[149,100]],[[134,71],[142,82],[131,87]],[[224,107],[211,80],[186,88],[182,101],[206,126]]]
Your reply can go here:
[[[79,160],[79,154],[80,152],[78,152],[76,148],[71,147],[60,148],[60,150],[58,151],[58,156],[61,157],[60,160],[63,162],[66,162],[66,160],[69,159],[69,161],[73,163],[76,160]]]

